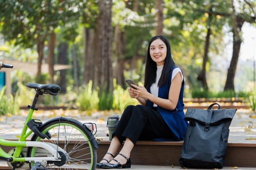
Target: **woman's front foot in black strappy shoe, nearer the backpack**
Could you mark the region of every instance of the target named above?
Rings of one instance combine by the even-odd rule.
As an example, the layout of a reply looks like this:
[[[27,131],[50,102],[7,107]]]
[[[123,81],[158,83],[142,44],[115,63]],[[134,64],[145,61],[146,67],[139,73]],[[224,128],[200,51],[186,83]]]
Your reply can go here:
[[[101,168],[104,169],[121,169],[131,168],[131,159],[124,156],[122,153],[118,155],[109,163],[104,163]]]

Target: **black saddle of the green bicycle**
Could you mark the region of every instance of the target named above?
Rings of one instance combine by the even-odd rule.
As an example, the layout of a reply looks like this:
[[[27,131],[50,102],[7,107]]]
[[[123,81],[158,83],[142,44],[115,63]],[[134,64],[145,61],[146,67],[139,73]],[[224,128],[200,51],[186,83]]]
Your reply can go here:
[[[36,90],[43,90],[43,93],[48,93],[53,96],[57,96],[59,94],[59,90],[61,89],[59,85],[55,84],[38,84],[38,83],[28,83],[26,85],[29,88],[35,88]]]

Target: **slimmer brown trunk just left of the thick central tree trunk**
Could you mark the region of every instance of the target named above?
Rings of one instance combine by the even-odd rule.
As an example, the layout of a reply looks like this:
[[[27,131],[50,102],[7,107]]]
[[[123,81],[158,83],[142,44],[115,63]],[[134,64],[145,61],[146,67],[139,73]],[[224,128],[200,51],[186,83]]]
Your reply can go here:
[[[83,71],[83,84],[86,85],[90,80],[93,82],[95,74],[95,30],[92,28],[86,29],[84,27],[84,71]]]

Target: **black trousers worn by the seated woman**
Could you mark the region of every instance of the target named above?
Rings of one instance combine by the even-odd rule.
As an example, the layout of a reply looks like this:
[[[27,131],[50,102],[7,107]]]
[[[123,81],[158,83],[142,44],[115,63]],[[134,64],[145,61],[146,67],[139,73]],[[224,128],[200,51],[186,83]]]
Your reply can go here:
[[[134,144],[138,140],[173,137],[160,113],[143,105],[125,108],[113,136],[117,136],[120,143],[128,137]]]

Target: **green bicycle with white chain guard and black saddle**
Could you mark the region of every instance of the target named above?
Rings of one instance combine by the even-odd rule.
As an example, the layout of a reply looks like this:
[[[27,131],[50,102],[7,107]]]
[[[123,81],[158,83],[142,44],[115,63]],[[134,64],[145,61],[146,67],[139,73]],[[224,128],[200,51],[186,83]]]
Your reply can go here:
[[[0,62],[1,68],[13,68]],[[0,159],[7,161],[12,170],[72,169],[95,170],[98,143],[95,139],[95,123],[81,123],[71,118],[54,118],[45,123],[32,119],[40,95],[59,94],[60,86],[55,84],[28,83],[36,90],[32,105],[29,105],[18,141],[0,137],[0,145],[13,147],[8,153],[0,148]],[[30,140],[29,140],[29,137]]]

